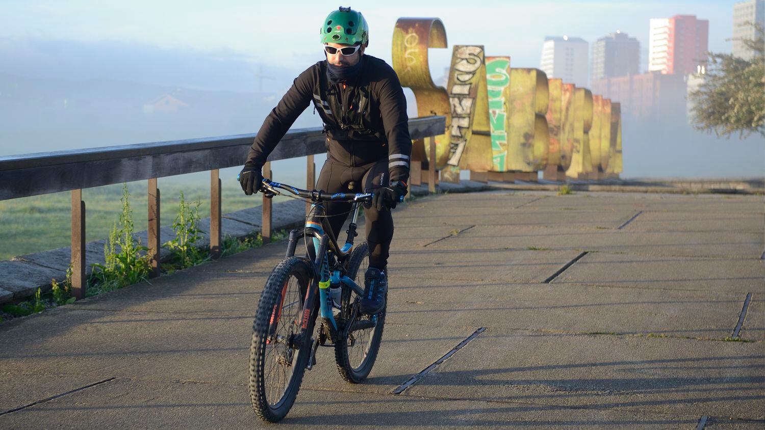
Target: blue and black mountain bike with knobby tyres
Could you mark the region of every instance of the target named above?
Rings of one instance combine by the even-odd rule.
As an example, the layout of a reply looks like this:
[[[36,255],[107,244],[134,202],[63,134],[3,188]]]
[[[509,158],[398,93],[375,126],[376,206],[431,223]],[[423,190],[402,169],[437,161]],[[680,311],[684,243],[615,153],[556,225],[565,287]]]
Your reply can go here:
[[[278,422],[295,403],[304,371],[316,364],[320,346],[334,348],[343,380],[366,379],[379,351],[386,310],[376,315],[360,312],[368,247],[366,242],[354,247],[353,238],[359,205],[371,202],[372,193],[330,194],[269,179],[263,179],[260,189],[265,198],[282,195],[283,190],[313,203],[305,227],[289,234],[287,254],[265,283],[252,326],[252,408],[261,419]],[[327,221],[324,202],[353,202],[342,247]],[[306,257],[295,255],[301,239]]]

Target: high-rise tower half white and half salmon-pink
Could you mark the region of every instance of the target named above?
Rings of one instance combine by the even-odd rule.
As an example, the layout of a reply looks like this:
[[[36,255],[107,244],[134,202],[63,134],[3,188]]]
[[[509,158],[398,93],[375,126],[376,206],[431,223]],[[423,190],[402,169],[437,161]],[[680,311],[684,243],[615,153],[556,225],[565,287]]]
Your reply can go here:
[[[696,73],[706,64],[709,21],[695,15],[652,18],[648,70],[664,74]]]

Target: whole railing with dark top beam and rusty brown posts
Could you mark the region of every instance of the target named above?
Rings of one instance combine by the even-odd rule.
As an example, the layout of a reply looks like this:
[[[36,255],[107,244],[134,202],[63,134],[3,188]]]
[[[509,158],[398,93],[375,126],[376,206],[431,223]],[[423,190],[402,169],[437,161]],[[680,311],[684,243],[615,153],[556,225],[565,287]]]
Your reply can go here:
[[[432,116],[411,118],[412,139],[428,138],[430,154],[435,154],[435,136],[444,133],[446,118]],[[220,257],[221,213],[219,170],[241,166],[255,134],[204,137],[184,141],[153,142],[114,147],[65,150],[37,154],[0,157],[0,200],[38,196],[52,192],[72,193],[72,293],[85,297],[85,202],[82,190],[95,186],[148,179],[148,248],[151,276],[159,274],[160,192],[157,178],[184,173],[210,171],[210,253]],[[295,157],[308,157],[307,186],[316,181],[314,155],[327,152],[326,136],[321,128],[288,131],[263,167],[263,174],[272,177],[271,162]],[[422,162],[412,161],[410,185],[419,185],[421,178],[435,192],[435,163],[428,163],[429,173],[422,175]],[[272,230],[272,201],[263,199],[262,236],[268,242]]]

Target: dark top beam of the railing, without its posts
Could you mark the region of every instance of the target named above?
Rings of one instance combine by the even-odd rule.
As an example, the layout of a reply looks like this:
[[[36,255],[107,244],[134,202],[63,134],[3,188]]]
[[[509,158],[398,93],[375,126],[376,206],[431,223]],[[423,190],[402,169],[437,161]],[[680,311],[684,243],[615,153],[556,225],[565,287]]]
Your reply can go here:
[[[446,118],[409,120],[412,139],[442,134]],[[255,134],[0,157],[0,200],[241,166]],[[288,131],[269,161],[327,152],[321,128]]]

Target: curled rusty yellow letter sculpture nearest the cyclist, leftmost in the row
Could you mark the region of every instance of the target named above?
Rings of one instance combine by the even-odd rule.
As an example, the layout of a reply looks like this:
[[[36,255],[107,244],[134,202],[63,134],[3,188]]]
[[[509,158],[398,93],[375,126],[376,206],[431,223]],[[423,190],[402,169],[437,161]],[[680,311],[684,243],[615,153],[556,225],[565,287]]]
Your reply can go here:
[[[436,168],[446,164],[449,154],[449,128],[451,111],[449,95],[441,86],[436,86],[428,68],[428,48],[445,48],[446,30],[438,18],[399,18],[393,29],[393,70],[399,75],[401,86],[408,86],[415,93],[417,115],[444,115],[446,129],[444,134],[435,137]],[[422,139],[412,147],[413,162],[427,162],[430,149]],[[415,177],[415,163],[412,163],[412,183],[418,184]]]

